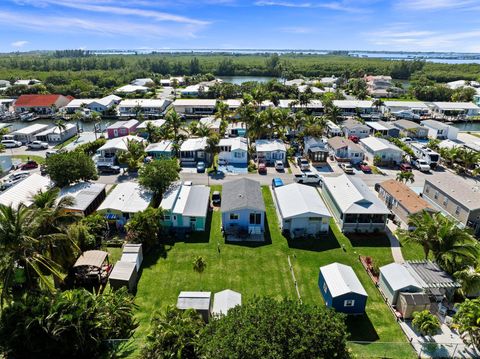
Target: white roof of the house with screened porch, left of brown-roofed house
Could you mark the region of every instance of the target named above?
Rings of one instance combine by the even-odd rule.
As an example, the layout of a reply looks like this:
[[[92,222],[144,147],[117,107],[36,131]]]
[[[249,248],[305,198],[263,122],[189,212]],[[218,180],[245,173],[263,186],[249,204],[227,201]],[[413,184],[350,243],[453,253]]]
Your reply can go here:
[[[360,178],[342,174],[338,177],[324,177],[323,183],[343,213],[390,213]]]

